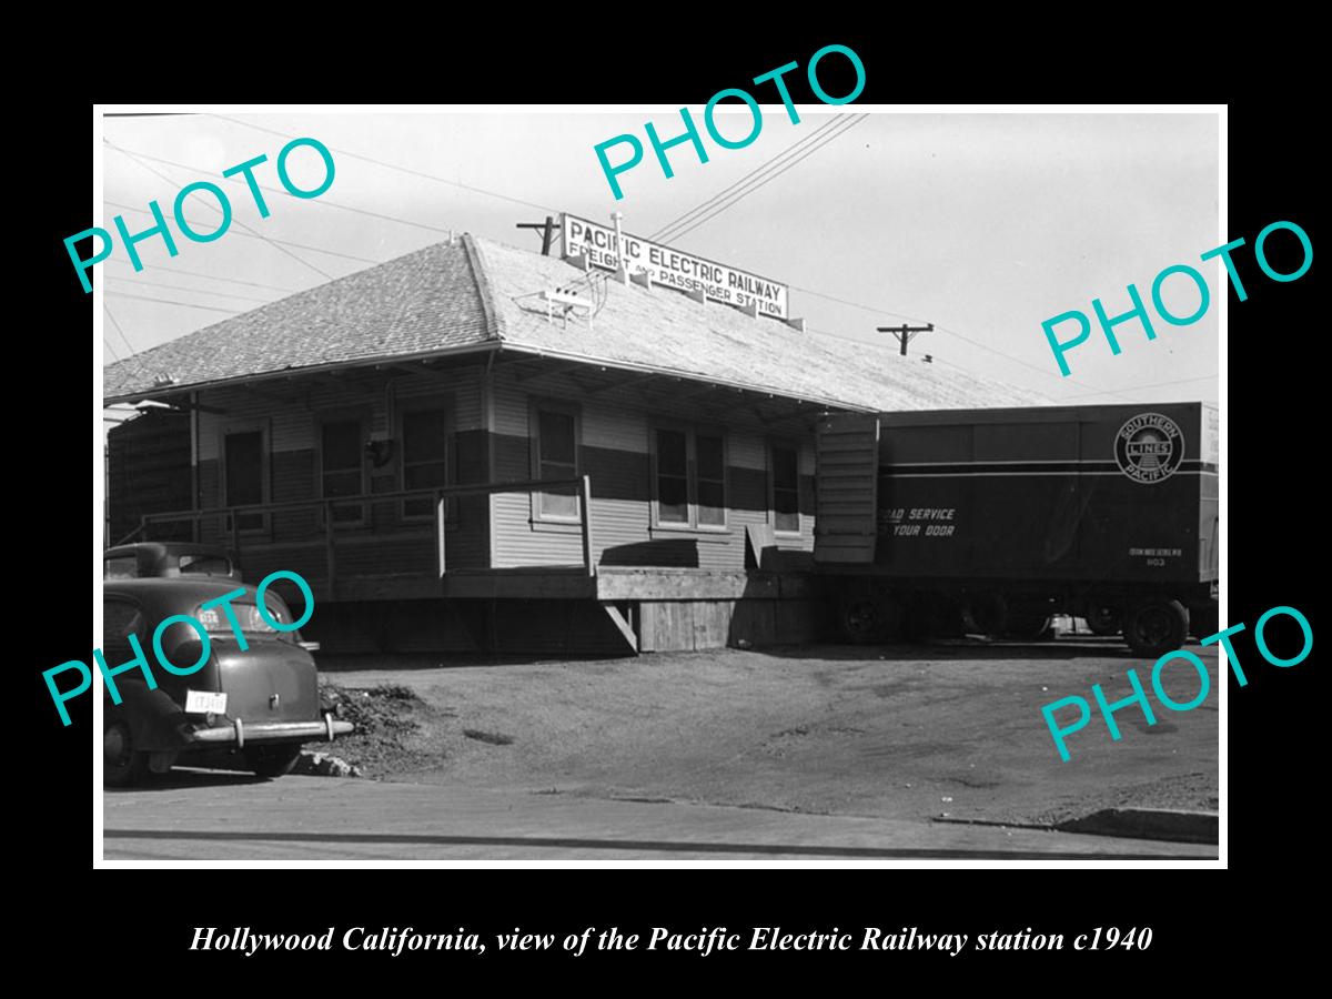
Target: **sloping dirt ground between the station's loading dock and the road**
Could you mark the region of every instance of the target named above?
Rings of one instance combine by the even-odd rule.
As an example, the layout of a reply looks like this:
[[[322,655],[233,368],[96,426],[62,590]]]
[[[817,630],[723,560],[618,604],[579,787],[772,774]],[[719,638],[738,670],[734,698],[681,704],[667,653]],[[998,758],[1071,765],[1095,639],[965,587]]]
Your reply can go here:
[[[1211,694],[1187,713],[1092,723],[1060,762],[1040,707],[1131,693],[1151,663],[1112,639],[799,646],[637,659],[457,663],[324,657],[370,778],[894,819],[1050,825],[1103,807],[1217,807]],[[1175,663],[1177,702],[1197,677]]]

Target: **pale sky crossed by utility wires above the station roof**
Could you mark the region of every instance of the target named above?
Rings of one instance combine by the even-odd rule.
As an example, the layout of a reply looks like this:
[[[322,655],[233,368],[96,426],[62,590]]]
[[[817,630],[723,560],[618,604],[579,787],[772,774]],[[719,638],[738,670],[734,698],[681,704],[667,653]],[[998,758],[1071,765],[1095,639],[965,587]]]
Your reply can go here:
[[[691,112],[701,123],[702,108]],[[1199,257],[1235,234],[1219,230],[1215,113],[888,113],[855,104],[798,112],[793,124],[782,105],[763,105],[762,128],[745,149],[721,148],[705,131],[709,161],[690,144],[675,147],[671,178],[643,125],[653,121],[663,140],[678,135],[675,108],[108,117],[99,224],[111,229],[123,214],[131,233],[147,229],[151,200],[169,216],[176,193],[198,180],[224,188],[234,214],[212,242],[177,233],[176,257],[160,238],[139,244],[139,273],[119,242],[96,266],[109,317],[105,361],[448,240],[450,230],[537,252],[539,237],[518,222],[562,210],[609,222],[618,210],[626,232],[649,236],[781,157],[727,196],[743,197],[665,241],[790,284],[791,314],[821,332],[895,346],[875,326],[935,324],[912,341],[910,362],[928,353],[1054,401],[1217,398],[1225,277],[1219,260]],[[741,137],[751,117],[718,113],[717,124]],[[619,174],[617,201],[594,147],[623,133],[646,153]],[[288,139],[304,136],[328,145],[336,164],[332,186],[308,200],[281,190],[273,163]],[[269,160],[256,168],[266,218],[241,177],[221,177],[260,155]],[[623,155],[609,153],[615,163]],[[322,178],[308,148],[289,165],[302,186]],[[189,196],[185,217],[212,230],[216,200]],[[1128,284],[1150,304],[1154,278],[1175,264],[1207,278],[1212,304],[1201,320],[1155,320],[1155,341],[1124,322],[1115,329],[1119,356],[1094,328],[1066,354],[1071,376],[1060,377],[1042,321],[1075,309],[1091,317],[1094,298],[1112,317],[1127,312]],[[1185,276],[1171,277],[1163,293],[1176,314],[1199,304]],[[1075,326],[1059,332],[1071,336]]]

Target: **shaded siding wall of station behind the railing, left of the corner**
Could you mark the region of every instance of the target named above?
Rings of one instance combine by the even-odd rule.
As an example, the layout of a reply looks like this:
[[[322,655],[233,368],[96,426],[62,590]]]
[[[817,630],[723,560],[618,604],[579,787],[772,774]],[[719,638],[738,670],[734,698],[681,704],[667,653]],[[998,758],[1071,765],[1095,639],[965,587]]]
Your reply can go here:
[[[440,400],[450,410],[449,476],[458,485],[485,482],[482,373],[477,366],[408,374],[380,372],[341,378],[302,378],[260,384],[254,390],[217,389],[201,393],[200,402],[224,413],[200,412],[198,505],[224,505],[221,452],[228,430],[264,429],[269,438],[269,501],[314,500],[320,496],[318,426],[325,416],[360,414],[368,434],[398,438],[397,414],[420,400]],[[390,424],[393,424],[390,426]],[[392,460],[373,468],[365,460],[368,492],[401,489],[401,441]],[[201,541],[229,543],[222,518],[205,521]],[[454,500],[446,537],[449,563],[482,567],[489,559],[489,511],[485,497]],[[272,514],[266,530],[241,534],[246,575],[290,569],[312,583],[326,575],[324,526],[318,510]],[[334,535],[336,571],[344,579],[428,574],[436,567],[434,527],[404,521],[396,501],[372,503],[365,526],[338,526]],[[254,553],[260,558],[256,562]],[[269,565],[272,563],[272,565]]]

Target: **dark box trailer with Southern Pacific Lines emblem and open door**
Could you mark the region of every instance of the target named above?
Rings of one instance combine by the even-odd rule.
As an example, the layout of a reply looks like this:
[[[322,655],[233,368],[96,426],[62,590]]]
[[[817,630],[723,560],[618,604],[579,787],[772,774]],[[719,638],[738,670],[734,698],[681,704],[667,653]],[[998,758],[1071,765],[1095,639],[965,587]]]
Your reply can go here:
[[[1156,657],[1216,630],[1213,406],[825,416],[817,482],[814,559],[852,641],[1071,614]]]

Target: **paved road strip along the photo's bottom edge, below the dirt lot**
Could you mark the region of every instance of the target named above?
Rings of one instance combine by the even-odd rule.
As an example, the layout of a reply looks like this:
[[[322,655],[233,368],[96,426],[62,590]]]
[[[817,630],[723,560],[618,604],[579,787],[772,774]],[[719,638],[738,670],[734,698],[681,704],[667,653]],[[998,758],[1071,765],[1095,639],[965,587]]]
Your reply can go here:
[[[174,771],[104,797],[105,858],[1181,859],[1215,846],[376,781]]]

